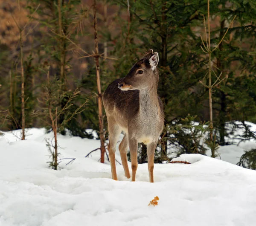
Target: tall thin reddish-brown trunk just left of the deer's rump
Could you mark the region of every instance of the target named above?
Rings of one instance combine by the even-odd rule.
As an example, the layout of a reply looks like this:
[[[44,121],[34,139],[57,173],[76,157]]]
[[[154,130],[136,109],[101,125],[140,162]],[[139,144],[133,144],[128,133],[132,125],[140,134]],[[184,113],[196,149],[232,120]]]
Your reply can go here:
[[[98,31],[97,31],[97,17],[96,17],[96,0],[93,0],[93,15],[94,15],[94,41],[95,41],[95,63],[96,63],[96,79],[98,88],[98,108],[99,108],[99,138],[100,138],[100,150],[101,157],[100,162],[104,163],[105,156],[105,136],[103,128],[103,109],[102,109],[102,92],[100,85],[99,74],[99,47],[98,47]]]

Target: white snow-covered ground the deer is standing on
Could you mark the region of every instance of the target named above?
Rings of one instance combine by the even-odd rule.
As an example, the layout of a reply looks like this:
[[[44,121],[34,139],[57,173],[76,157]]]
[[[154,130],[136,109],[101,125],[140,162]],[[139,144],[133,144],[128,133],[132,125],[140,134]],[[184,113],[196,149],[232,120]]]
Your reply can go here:
[[[0,226],[255,225],[256,171],[185,154],[176,160],[192,164],[155,164],[153,184],[146,164],[131,183],[117,163],[119,181],[113,181],[108,162],[98,162],[99,151],[84,158],[98,140],[59,135],[61,157],[76,160],[65,165],[70,159],[64,159],[54,171],[45,142],[52,133],[27,133],[24,141],[11,132],[0,136]],[[236,163],[255,142],[241,145],[221,147],[221,159]],[[158,205],[148,206],[155,196]]]

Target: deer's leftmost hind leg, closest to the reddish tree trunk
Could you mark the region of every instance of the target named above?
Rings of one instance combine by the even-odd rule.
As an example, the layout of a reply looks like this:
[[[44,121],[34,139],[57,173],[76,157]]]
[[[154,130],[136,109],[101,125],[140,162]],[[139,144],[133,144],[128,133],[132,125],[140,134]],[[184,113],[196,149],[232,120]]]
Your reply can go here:
[[[109,160],[111,165],[111,174],[112,179],[117,180],[116,175],[116,143],[121,133],[121,128],[113,118],[108,118],[108,132],[109,132],[109,143],[108,143],[108,152]]]

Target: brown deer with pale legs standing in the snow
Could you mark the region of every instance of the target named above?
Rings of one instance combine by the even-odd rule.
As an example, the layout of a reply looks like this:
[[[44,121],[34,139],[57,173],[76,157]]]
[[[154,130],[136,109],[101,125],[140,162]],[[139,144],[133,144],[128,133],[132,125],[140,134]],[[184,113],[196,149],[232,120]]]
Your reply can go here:
[[[130,178],[126,152],[131,154],[131,181],[135,181],[138,168],[138,143],[147,145],[148,172],[150,182],[154,182],[154,152],[163,130],[163,104],[157,96],[159,74],[158,53],[150,49],[131,68],[125,78],[113,81],[103,94],[103,103],[108,119],[108,151],[113,180],[117,180],[115,152],[121,131],[125,133],[119,151],[125,176]]]

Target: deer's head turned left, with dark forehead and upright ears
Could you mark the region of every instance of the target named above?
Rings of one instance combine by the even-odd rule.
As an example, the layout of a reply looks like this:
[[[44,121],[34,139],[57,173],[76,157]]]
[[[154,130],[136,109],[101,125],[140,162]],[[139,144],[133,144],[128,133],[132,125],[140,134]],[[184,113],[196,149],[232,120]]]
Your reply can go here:
[[[121,90],[143,90],[151,88],[158,82],[157,64],[158,53],[149,49],[140,61],[131,68],[125,78],[119,82]]]

